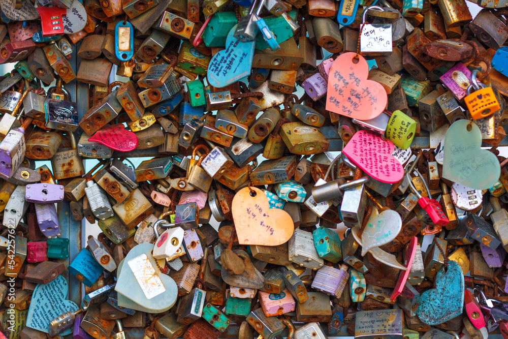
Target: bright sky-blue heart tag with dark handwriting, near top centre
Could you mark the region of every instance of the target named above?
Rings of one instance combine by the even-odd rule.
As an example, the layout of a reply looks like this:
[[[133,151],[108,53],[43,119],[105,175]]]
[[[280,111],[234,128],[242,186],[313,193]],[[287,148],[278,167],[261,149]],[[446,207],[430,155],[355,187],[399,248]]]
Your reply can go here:
[[[214,87],[225,87],[250,74],[254,56],[255,40],[241,42],[233,37],[236,25],[226,38],[226,49],[217,52],[208,64],[208,83]]]

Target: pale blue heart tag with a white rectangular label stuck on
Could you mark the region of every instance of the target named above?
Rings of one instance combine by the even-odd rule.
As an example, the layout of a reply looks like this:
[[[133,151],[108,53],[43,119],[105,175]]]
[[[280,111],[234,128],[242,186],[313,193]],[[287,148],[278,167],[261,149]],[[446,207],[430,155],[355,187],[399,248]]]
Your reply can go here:
[[[152,250],[153,244],[151,243],[136,245],[118,266],[120,273],[118,273],[115,291],[118,292],[119,306],[142,312],[150,310],[151,313],[161,313],[171,309],[175,304],[178,296],[176,283],[169,275],[161,273],[158,269],[152,256]],[[148,270],[143,270],[143,264],[147,263],[146,260],[149,261],[148,266],[151,265],[151,267],[148,267]],[[164,263],[165,259],[162,259],[159,266],[164,267]],[[136,274],[132,267],[136,270]],[[143,288],[140,284],[143,284]],[[150,298],[146,294],[149,294]],[[129,306],[122,304],[120,295],[134,303],[129,303]]]

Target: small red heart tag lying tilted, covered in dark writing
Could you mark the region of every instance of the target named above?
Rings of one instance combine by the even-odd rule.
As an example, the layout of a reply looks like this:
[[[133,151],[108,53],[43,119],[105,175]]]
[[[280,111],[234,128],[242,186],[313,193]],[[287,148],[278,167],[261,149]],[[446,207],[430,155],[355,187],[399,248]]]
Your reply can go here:
[[[125,130],[123,124],[106,126],[88,138],[109,148],[128,152],[138,146],[138,137],[131,131]]]

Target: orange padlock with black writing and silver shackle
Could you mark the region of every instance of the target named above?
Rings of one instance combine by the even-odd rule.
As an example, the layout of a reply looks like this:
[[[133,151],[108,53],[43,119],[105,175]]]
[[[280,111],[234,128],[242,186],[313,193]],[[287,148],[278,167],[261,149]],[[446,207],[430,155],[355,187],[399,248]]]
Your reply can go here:
[[[471,73],[471,84],[467,87],[467,96],[464,98],[469,114],[473,120],[484,118],[499,110],[499,102],[494,95],[492,87],[486,87],[478,82],[478,70]],[[471,93],[471,90],[474,92]]]

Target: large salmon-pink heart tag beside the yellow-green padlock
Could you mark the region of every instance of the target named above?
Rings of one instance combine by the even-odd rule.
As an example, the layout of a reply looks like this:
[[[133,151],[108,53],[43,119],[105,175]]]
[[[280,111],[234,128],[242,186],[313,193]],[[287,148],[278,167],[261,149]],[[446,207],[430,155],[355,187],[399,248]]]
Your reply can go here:
[[[328,77],[326,109],[351,118],[368,120],[383,112],[388,96],[383,86],[367,80],[369,66],[363,56],[344,53],[333,61]]]

